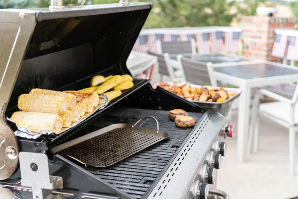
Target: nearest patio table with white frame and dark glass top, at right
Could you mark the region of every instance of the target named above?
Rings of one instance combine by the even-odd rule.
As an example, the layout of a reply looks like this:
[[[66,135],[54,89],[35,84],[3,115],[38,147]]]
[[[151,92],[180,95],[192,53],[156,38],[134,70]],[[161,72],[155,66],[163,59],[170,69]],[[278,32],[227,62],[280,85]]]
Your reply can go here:
[[[242,89],[238,109],[237,156],[240,162],[245,162],[248,154],[251,89],[295,82],[298,80],[298,70],[279,63],[248,61],[214,65],[214,74],[218,81]]]

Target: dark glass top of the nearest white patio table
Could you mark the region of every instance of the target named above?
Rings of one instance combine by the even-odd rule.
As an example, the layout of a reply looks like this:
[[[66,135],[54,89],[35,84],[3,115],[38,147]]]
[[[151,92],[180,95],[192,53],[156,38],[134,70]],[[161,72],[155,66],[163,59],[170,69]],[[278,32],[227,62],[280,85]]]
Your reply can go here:
[[[281,67],[271,63],[215,67],[214,71],[245,80],[298,74],[296,69]]]

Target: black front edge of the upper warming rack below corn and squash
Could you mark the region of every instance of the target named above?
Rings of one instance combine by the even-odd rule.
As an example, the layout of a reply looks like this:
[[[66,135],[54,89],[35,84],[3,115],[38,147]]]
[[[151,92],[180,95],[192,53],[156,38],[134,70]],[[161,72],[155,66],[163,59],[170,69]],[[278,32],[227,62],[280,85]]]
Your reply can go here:
[[[78,128],[82,127],[86,122],[90,121],[92,118],[94,118],[98,114],[102,113],[106,109],[114,106],[119,101],[123,100],[124,98],[128,97],[129,95],[133,94],[135,91],[139,90],[140,88],[142,88],[146,84],[149,84],[149,81],[148,80],[134,79],[134,87],[133,88],[123,91],[122,94],[121,94],[121,96],[119,96],[118,98],[115,98],[115,99],[111,100],[105,108],[103,108],[101,110],[98,110],[97,112],[94,112],[89,117],[89,119],[87,119],[85,122],[82,122],[81,124],[77,125],[76,128],[74,128],[72,130],[65,131],[65,132],[63,132],[61,134],[55,135],[54,138],[52,138],[51,141],[49,143],[47,143],[47,146],[48,147],[52,147],[52,146],[57,146],[57,145],[63,143],[63,139],[64,138],[67,138],[67,137],[71,136],[72,133],[74,133]]]

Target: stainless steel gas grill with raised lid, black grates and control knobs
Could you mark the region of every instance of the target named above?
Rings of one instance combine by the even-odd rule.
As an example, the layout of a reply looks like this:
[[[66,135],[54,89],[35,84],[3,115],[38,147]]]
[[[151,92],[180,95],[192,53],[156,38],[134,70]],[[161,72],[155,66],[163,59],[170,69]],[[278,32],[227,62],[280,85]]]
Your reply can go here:
[[[153,90],[148,80],[134,79],[133,88],[74,129],[37,139],[14,135],[16,126],[6,118],[15,111],[20,94],[33,88],[79,90],[88,87],[94,75],[130,74],[126,61],[152,6],[126,0],[74,7],[52,2],[57,4],[50,8],[0,10],[2,196],[31,199],[33,193],[36,199],[228,198],[215,189],[215,174],[225,153],[219,134],[232,131],[225,122],[230,105],[205,110],[160,88]],[[174,108],[188,111],[196,125],[176,127],[167,116]],[[109,125],[134,124],[146,116],[156,118],[159,130],[169,137],[112,166],[96,168],[51,152]],[[151,118],[139,125],[156,128]],[[90,144],[96,147],[98,143]],[[98,156],[101,153],[98,151]],[[88,161],[96,163],[98,156],[95,153]]]

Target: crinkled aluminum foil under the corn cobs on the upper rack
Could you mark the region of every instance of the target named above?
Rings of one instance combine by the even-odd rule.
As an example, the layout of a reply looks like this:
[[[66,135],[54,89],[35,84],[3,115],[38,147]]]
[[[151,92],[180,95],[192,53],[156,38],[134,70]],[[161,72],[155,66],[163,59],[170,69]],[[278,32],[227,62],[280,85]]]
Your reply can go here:
[[[79,123],[85,121],[86,119],[88,119],[91,115],[93,115],[94,112],[96,112],[97,110],[103,109],[104,107],[106,107],[108,105],[109,100],[108,100],[107,96],[99,94],[99,98],[100,98],[100,101],[102,101],[102,102],[99,103],[98,106],[92,112],[86,113],[83,116],[81,116],[81,118],[78,121],[74,122],[70,127],[62,128],[61,131],[58,134],[63,133],[66,130],[69,130],[71,128],[74,128],[77,124],[79,124]],[[7,118],[7,120],[11,121],[9,118]],[[11,121],[11,122],[13,122],[13,121]],[[48,131],[48,130],[31,132],[28,128],[18,128],[16,131],[14,131],[15,136],[23,137],[23,138],[27,138],[27,139],[37,139],[41,135],[50,135],[52,133],[54,133],[54,132],[51,132],[51,131]]]

